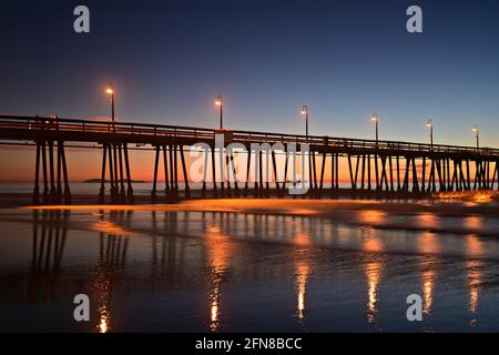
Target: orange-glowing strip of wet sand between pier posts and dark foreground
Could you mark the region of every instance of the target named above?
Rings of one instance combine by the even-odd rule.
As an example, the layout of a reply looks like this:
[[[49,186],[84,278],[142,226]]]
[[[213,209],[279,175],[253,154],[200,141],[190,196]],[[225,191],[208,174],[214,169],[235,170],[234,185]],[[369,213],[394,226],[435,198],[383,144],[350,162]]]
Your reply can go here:
[[[175,204],[27,206],[21,210],[106,212],[203,212],[322,219],[381,230],[427,231],[499,237],[496,203],[439,201],[190,200]]]

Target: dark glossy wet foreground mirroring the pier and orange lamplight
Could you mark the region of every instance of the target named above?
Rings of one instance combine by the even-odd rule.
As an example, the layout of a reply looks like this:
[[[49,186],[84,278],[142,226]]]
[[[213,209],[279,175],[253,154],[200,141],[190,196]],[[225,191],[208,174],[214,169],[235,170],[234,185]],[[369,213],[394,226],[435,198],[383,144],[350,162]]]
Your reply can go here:
[[[486,300],[499,295],[499,241],[378,229],[390,220],[400,223],[373,211],[353,215],[353,224],[211,212],[4,211],[0,225],[12,234],[0,237],[0,281],[9,285],[0,308],[10,331],[497,328]],[[429,214],[416,221],[449,223]],[[481,216],[461,223],[497,225]],[[428,320],[408,323],[405,298],[419,292]],[[91,297],[91,328],[62,316],[72,314],[78,293]]]

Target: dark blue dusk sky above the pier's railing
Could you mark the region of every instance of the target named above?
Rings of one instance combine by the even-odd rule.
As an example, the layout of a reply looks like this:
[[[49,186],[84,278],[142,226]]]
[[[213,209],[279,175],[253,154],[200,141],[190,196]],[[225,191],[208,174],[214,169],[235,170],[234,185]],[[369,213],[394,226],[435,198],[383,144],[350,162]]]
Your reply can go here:
[[[91,33],[73,32],[73,9]],[[406,31],[410,4],[424,33]],[[0,112],[485,145],[499,133],[498,1],[0,3]]]

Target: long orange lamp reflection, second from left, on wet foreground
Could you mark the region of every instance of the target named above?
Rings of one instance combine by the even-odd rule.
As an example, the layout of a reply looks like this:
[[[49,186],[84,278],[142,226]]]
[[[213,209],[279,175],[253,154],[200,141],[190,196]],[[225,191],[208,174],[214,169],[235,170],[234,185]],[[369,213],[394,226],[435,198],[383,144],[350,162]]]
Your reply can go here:
[[[212,225],[205,231],[205,245],[210,258],[210,331],[218,332],[221,327],[221,296],[222,282],[230,266],[231,253],[234,243],[231,237],[224,235],[218,226]]]

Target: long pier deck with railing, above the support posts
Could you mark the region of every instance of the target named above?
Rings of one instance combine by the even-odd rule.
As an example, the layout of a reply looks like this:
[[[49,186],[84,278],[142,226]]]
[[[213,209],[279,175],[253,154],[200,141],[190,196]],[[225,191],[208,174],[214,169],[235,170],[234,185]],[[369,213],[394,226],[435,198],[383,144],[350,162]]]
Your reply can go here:
[[[192,140],[213,140],[215,134],[230,133],[232,142],[243,144],[249,143],[308,143],[317,148],[337,148],[345,150],[377,150],[377,151],[407,151],[420,153],[449,153],[449,154],[477,154],[498,156],[499,149],[491,148],[473,148],[462,145],[447,145],[447,144],[428,144],[404,141],[385,141],[385,140],[363,140],[352,138],[337,138],[327,135],[304,135],[289,133],[273,133],[261,131],[241,131],[241,130],[216,130],[197,126],[182,126],[182,125],[165,125],[165,124],[150,124],[138,122],[110,122],[96,120],[75,120],[75,119],[60,119],[60,118],[41,118],[41,116],[12,116],[0,115],[0,139],[9,140],[22,139],[22,131],[24,131],[26,139],[30,139],[30,132],[41,133],[43,131],[50,133],[78,133],[79,139],[85,141],[85,135],[105,135],[123,139],[124,136],[136,138],[140,136],[143,141],[150,138],[175,138]],[[53,132],[55,131],[55,132]],[[9,135],[9,133],[12,133]],[[228,135],[228,134],[227,134]],[[74,136],[74,135],[73,135]],[[93,140],[93,138],[91,139]]]

